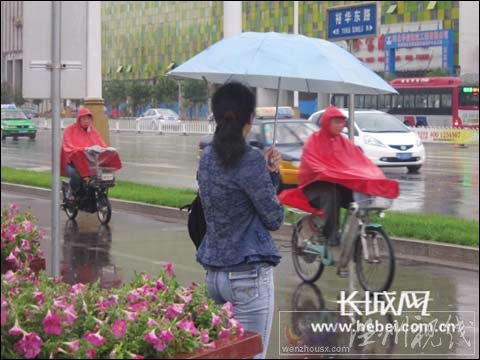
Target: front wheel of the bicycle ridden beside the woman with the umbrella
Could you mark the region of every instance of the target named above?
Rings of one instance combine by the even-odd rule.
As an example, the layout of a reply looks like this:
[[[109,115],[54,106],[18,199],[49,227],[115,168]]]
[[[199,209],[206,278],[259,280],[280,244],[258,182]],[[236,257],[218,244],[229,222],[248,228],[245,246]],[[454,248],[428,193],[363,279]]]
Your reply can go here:
[[[358,281],[364,290],[382,292],[390,288],[395,274],[395,254],[382,228],[367,229],[365,249],[360,236],[357,238],[354,259]]]

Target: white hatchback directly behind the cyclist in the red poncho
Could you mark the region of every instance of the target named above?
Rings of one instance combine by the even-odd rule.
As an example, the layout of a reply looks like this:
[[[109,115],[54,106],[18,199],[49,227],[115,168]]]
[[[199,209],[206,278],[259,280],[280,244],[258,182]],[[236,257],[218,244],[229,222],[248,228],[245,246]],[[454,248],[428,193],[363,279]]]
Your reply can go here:
[[[341,111],[348,117],[348,110]],[[321,126],[324,112],[312,114],[309,120]],[[348,136],[347,127],[344,135]],[[395,116],[382,111],[355,111],[355,145],[381,167],[405,166],[415,173],[425,162],[425,147],[418,135]]]

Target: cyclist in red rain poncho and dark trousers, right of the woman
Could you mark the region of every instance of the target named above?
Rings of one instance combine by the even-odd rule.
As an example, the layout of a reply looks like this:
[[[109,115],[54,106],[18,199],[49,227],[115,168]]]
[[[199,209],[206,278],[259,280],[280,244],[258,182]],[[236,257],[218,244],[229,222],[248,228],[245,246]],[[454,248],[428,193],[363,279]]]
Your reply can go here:
[[[280,194],[280,201],[309,212],[322,209],[323,235],[329,245],[338,245],[340,207],[353,201],[353,191],[386,198],[399,195],[398,182],[383,172],[342,135],[346,116],[329,106],[320,131],[307,140],[302,154],[299,188]]]

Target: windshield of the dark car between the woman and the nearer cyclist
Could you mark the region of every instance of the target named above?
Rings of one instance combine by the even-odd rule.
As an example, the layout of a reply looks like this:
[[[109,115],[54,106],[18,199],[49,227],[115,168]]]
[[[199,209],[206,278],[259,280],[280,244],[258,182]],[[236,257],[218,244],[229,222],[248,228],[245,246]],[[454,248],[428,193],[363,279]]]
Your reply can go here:
[[[273,142],[273,123],[265,124],[265,140],[267,145]],[[277,124],[278,146],[303,145],[318,127],[309,122],[279,122]]]

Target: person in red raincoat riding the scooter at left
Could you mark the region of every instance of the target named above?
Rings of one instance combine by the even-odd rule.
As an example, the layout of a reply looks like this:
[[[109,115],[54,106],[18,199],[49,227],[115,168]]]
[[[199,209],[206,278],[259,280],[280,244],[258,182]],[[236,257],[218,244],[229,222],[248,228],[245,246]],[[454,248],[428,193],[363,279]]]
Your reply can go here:
[[[75,194],[82,180],[90,180],[89,163],[85,156],[85,148],[98,145],[107,148],[108,145],[92,125],[93,115],[86,107],[78,110],[76,123],[65,129],[61,153],[61,175],[70,178],[70,188]],[[116,170],[121,168],[118,155],[111,160],[110,166]]]

